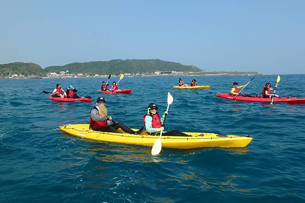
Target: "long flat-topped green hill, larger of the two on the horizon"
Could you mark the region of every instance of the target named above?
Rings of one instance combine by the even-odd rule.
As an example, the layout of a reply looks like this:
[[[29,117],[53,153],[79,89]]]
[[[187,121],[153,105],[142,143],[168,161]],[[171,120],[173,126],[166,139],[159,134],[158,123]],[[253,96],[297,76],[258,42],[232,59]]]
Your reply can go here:
[[[110,61],[92,61],[84,63],[69,63],[63,66],[49,66],[45,72],[67,71],[69,73],[82,73],[89,75],[108,75],[120,73],[153,73],[155,71],[179,71],[179,72],[200,72],[202,71],[193,65],[182,65],[181,63],[163,61],[160,59],[115,59]]]

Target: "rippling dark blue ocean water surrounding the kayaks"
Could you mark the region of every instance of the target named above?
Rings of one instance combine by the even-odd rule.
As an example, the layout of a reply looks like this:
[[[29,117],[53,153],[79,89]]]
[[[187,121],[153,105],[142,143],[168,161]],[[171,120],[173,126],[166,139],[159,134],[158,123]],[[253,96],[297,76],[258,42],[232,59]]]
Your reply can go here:
[[[97,90],[107,78],[0,80],[0,202],[305,202],[305,105],[216,97],[253,76],[180,77],[210,89],[173,89],[179,77],[125,77],[131,94]],[[277,75],[256,76],[242,92],[261,93]],[[118,81],[111,78],[110,82]],[[282,75],[277,94],[305,97],[305,75]],[[166,130],[248,134],[246,148],[165,149],[96,142],[56,127],[88,123],[93,103],[60,103],[42,90],[60,83],[104,96],[108,114],[133,128],[149,103],[167,107]]]

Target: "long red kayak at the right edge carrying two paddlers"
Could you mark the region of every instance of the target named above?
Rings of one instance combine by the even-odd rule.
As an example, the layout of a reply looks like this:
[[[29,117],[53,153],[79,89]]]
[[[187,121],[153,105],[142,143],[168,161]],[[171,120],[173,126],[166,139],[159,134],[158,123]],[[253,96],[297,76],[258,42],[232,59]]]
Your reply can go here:
[[[235,95],[224,93],[224,94],[216,94],[218,97],[227,98],[233,100]],[[263,98],[262,96],[236,96],[234,100],[237,101],[255,101],[255,102],[271,102],[271,98]],[[294,103],[301,104],[305,103],[305,98],[297,98],[297,97],[274,97],[273,102],[281,102],[281,103]]]

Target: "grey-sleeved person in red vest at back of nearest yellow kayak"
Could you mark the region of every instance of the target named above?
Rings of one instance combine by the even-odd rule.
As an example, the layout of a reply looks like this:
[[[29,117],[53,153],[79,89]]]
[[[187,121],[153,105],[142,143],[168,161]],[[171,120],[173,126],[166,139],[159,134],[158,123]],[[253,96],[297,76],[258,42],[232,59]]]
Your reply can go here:
[[[134,131],[130,127],[124,125],[122,122],[115,123],[112,120],[111,116],[107,116],[107,109],[105,107],[105,102],[106,101],[103,97],[99,97],[97,99],[97,106],[90,111],[90,119],[89,119],[90,128],[96,131],[115,132],[115,133],[121,133],[120,131],[117,130],[118,128],[121,128],[122,130],[130,134],[140,134],[143,127],[138,131]]]

